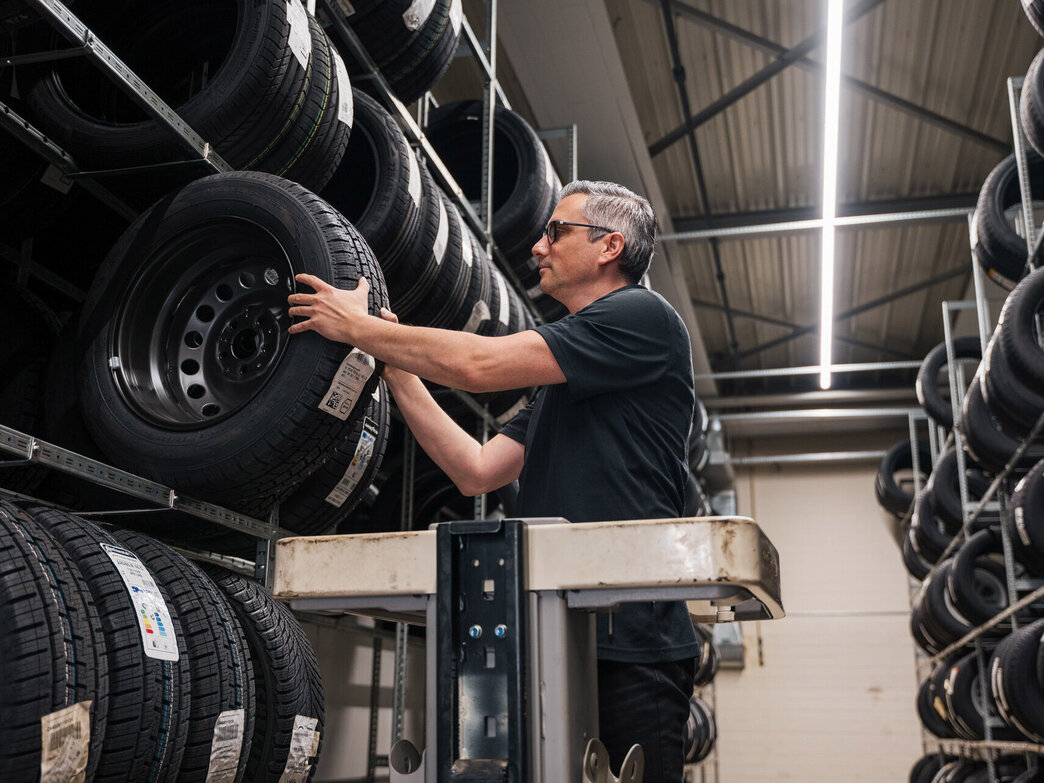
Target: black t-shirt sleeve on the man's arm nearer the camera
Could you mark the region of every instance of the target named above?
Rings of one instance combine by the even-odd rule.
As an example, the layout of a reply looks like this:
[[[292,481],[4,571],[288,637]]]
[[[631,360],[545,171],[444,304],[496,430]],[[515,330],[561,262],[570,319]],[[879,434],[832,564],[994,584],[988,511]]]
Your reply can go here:
[[[603,298],[536,329],[574,400],[656,383],[672,358],[667,309],[640,289]]]

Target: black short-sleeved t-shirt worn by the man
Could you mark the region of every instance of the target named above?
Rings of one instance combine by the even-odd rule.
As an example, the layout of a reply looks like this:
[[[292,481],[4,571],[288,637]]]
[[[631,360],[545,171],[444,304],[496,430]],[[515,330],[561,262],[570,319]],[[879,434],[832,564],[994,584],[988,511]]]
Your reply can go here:
[[[501,430],[525,446],[519,516],[683,516],[694,397],[689,335],[674,309],[630,285],[537,331],[566,382],[543,387]],[[598,657],[606,660],[651,663],[698,652],[682,601],[621,604],[609,631],[600,615]]]

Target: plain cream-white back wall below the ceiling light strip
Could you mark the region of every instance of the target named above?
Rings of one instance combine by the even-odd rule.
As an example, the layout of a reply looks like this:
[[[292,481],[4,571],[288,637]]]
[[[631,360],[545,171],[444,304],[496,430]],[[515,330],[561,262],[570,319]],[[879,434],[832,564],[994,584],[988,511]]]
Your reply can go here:
[[[779,550],[788,616],[743,623],[746,666],[718,673],[721,783],[893,783],[921,756],[906,572],[876,469],[738,472],[739,513]]]

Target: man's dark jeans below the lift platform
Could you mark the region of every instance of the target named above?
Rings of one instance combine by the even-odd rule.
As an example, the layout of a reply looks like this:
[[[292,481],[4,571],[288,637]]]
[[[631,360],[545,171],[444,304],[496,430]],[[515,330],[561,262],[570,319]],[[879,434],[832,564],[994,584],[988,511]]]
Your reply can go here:
[[[645,754],[643,783],[682,783],[685,721],[696,662],[598,661],[598,735],[619,775],[631,745]]]

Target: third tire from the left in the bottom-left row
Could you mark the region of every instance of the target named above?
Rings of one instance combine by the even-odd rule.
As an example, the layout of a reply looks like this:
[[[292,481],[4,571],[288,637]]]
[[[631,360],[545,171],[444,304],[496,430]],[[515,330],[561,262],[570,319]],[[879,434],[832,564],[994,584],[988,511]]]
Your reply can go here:
[[[204,783],[211,753],[222,745],[229,756],[221,770],[229,780],[244,780],[254,735],[254,672],[239,620],[210,577],[173,549],[140,532],[105,530],[166,588],[185,634],[191,711],[177,783]]]

